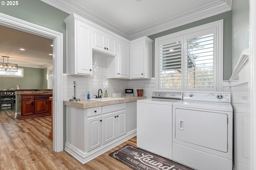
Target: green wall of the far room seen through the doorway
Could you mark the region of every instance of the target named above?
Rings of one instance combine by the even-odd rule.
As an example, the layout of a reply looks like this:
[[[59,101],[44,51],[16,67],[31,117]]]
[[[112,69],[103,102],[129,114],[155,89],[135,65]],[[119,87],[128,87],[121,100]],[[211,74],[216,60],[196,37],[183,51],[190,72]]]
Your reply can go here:
[[[0,90],[3,90],[3,89],[10,90],[10,88],[15,87],[16,84],[20,84],[20,89],[44,89],[43,84],[46,83],[47,85],[47,80],[44,79],[44,74],[43,74],[44,69],[21,67],[21,66],[18,66],[18,68],[23,68],[24,77],[21,78],[21,77],[0,76]],[[47,89],[47,86],[46,86],[46,89]]]

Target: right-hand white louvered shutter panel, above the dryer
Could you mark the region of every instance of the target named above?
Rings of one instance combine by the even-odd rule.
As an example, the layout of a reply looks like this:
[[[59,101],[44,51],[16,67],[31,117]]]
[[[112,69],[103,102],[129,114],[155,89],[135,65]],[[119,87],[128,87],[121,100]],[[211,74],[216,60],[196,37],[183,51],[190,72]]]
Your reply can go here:
[[[213,89],[215,71],[215,33],[206,29],[186,35],[186,89]]]

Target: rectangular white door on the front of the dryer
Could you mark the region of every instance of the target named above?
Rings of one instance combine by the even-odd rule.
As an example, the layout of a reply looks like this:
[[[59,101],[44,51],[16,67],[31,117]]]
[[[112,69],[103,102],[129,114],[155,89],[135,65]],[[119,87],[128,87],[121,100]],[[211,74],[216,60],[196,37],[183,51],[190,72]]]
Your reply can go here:
[[[212,111],[175,109],[175,139],[228,151],[228,115]]]

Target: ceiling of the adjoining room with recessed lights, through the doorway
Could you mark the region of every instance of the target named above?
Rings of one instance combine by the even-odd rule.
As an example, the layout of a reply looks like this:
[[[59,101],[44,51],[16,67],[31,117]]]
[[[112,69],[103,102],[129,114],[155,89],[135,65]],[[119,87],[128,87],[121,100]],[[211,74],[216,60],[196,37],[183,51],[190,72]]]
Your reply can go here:
[[[9,57],[9,63],[18,66],[45,68],[52,64],[52,40],[0,25],[0,63]],[[21,51],[20,48],[25,49]],[[4,58],[4,63],[7,59]]]

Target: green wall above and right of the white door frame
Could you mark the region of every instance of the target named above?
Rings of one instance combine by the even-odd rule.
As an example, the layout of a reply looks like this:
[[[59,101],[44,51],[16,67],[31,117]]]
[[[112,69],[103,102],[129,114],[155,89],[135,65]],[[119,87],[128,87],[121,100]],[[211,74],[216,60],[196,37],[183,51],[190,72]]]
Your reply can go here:
[[[0,5],[0,12],[63,33],[63,72],[66,73],[66,24],[69,16],[40,0],[20,0],[18,6]]]

